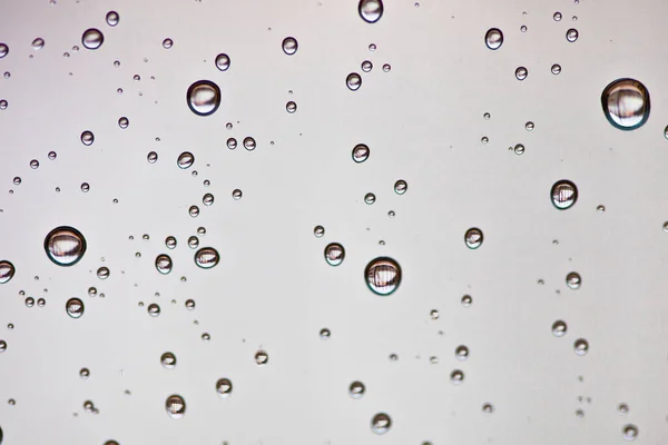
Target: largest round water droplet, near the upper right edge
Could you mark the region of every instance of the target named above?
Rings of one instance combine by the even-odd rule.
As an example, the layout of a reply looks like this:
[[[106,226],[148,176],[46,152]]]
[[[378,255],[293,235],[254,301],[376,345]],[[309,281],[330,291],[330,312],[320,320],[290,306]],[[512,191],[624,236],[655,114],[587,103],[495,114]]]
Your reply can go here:
[[[603,115],[620,130],[635,130],[649,118],[649,91],[635,79],[610,82],[601,93]]]

